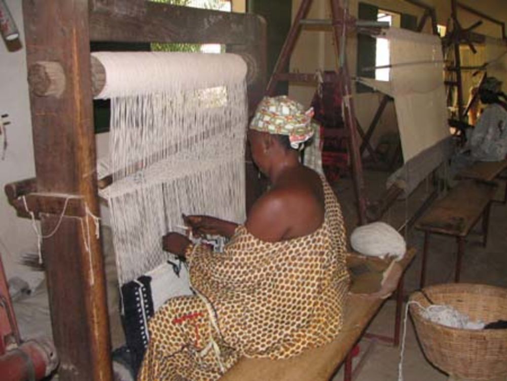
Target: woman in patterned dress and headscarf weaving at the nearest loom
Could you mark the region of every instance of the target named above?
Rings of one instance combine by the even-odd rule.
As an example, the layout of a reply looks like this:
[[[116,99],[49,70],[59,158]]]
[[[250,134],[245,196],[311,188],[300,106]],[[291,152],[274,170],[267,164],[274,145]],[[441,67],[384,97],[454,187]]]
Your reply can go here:
[[[196,295],[168,300],[150,321],[139,380],[215,380],[241,356],[295,356],[339,333],[345,229],[329,184],[298,160],[311,117],[285,96],[264,98],[248,141],[270,189],[243,225],[185,218],[197,234],[230,237],[224,253],[165,237],[166,250],[186,258]]]

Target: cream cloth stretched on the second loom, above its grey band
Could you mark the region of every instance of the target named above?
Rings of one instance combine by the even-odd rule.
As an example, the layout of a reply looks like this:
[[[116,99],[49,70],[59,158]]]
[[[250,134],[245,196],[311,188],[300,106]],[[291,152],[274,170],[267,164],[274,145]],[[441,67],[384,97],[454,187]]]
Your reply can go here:
[[[450,135],[442,43],[437,36],[389,28],[389,81],[360,78],[394,98],[405,162]]]

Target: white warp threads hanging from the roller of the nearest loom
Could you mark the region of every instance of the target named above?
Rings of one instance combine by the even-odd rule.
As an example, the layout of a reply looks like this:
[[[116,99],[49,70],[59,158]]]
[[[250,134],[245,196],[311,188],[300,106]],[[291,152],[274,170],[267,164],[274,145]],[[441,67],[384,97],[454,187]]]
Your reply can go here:
[[[120,283],[167,258],[182,213],[245,218],[246,64],[233,54],[99,52],[111,97],[111,211]]]

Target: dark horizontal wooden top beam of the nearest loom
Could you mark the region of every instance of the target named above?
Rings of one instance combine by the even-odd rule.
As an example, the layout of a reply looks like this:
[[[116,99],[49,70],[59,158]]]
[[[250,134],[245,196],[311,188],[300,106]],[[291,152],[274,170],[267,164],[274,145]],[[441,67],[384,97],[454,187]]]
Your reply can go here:
[[[128,5],[125,5],[127,7]],[[117,8],[90,12],[90,40],[199,44],[256,44],[262,17],[144,2],[137,16]]]

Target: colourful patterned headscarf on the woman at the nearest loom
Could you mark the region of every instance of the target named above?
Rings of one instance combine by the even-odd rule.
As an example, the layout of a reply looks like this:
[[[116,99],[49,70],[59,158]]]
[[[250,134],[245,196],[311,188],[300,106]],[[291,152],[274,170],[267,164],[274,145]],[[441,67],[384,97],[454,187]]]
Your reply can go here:
[[[309,140],[315,133],[312,122],[313,108],[305,110],[301,103],[285,95],[264,97],[259,103],[250,128],[271,134],[287,135],[294,149]]]

